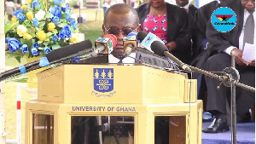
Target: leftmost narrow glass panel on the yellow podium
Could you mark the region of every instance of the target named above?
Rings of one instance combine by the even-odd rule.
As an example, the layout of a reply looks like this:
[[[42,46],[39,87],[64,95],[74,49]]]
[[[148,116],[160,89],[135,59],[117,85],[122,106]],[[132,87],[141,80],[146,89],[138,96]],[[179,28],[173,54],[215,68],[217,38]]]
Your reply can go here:
[[[53,144],[55,137],[54,116],[33,113],[32,118],[32,143]]]

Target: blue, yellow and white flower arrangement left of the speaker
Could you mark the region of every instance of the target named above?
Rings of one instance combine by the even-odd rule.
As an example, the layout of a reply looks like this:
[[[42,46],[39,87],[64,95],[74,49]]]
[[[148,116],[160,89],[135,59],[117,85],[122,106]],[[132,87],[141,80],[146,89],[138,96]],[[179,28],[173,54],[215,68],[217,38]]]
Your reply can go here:
[[[80,41],[77,19],[63,0],[26,0],[5,25],[6,54],[20,62]]]

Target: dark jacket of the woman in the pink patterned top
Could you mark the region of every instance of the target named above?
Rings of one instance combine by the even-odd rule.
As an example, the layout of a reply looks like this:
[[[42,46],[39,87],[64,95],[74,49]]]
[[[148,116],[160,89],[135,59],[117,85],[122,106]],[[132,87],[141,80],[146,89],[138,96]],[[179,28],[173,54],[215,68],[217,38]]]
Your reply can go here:
[[[143,22],[148,15],[150,5],[145,3],[137,8],[137,14],[139,16],[140,24],[143,26]],[[191,36],[189,35],[189,18],[186,11],[166,3],[167,9],[167,43],[174,41],[177,45],[177,49],[172,51],[178,59],[184,63],[188,63],[191,55]]]

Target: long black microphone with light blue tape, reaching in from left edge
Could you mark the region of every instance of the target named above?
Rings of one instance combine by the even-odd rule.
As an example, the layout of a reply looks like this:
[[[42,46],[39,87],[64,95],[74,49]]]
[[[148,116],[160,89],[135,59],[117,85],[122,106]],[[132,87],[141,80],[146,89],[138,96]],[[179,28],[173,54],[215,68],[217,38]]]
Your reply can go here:
[[[10,69],[8,71],[0,73],[0,81],[6,78],[9,78],[10,76],[15,76],[21,73],[30,72],[34,70],[32,69],[33,66],[40,66],[40,67],[49,66],[50,64],[55,63],[55,61],[60,61],[60,59],[63,59],[69,55],[76,54],[83,49],[89,49],[91,47],[92,47],[92,43],[90,42],[90,40],[85,40],[80,43],[74,43],[72,45],[62,47],[60,49],[52,50],[51,52],[49,52],[49,54],[45,55],[45,57],[39,60],[35,60],[25,65],[21,65],[13,69]]]

